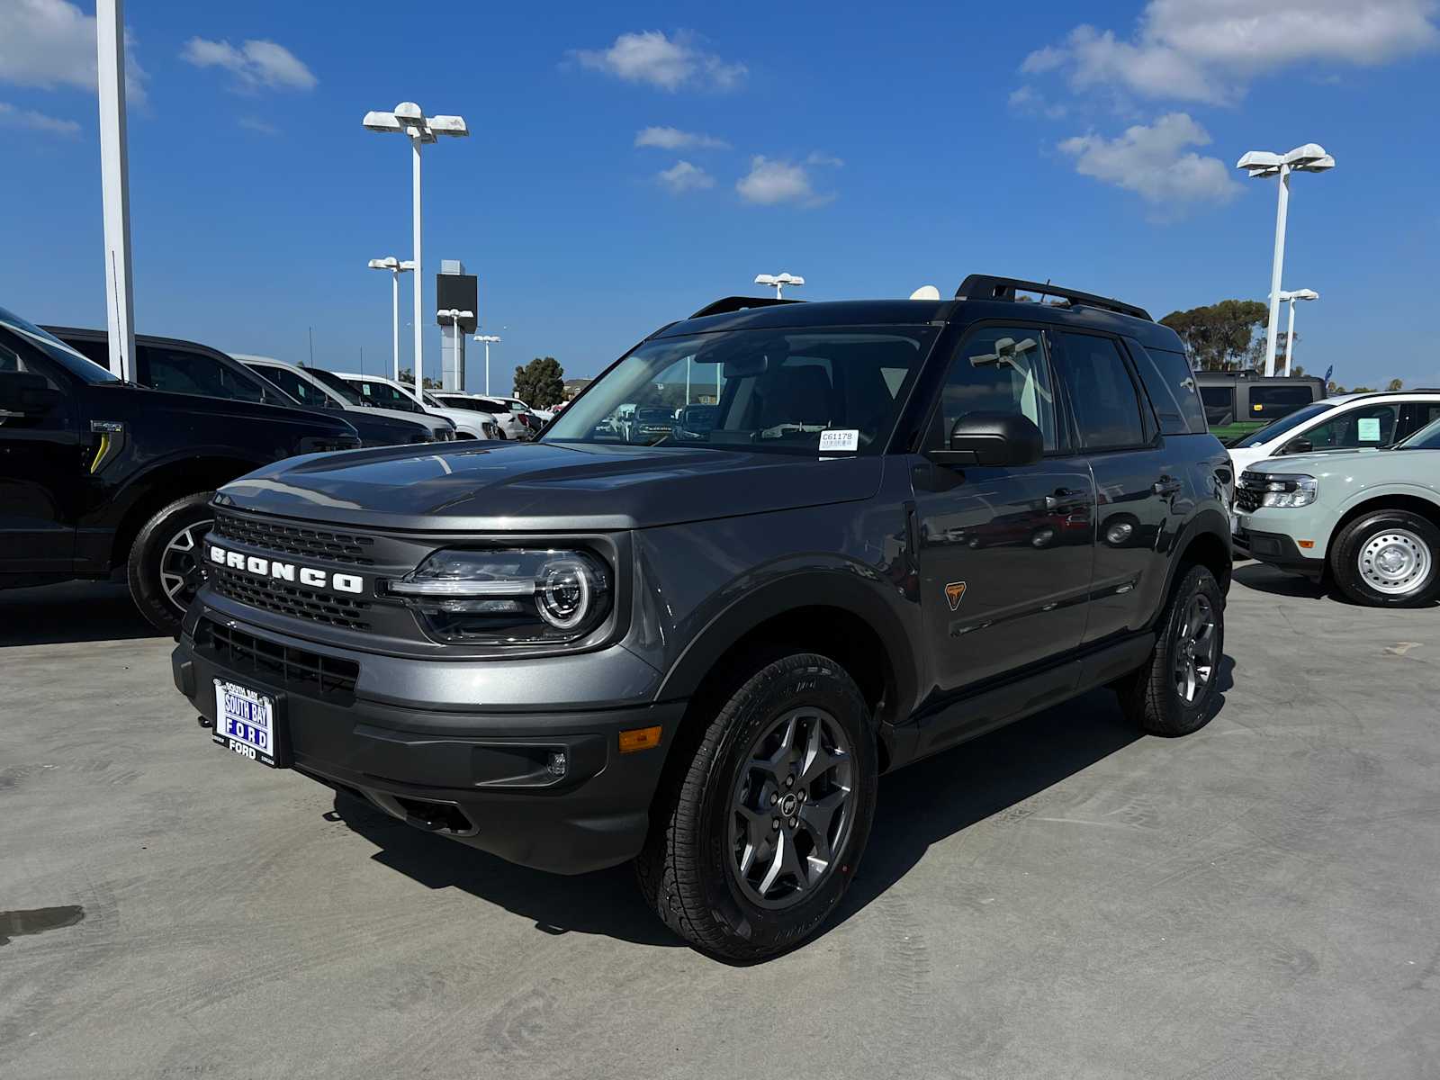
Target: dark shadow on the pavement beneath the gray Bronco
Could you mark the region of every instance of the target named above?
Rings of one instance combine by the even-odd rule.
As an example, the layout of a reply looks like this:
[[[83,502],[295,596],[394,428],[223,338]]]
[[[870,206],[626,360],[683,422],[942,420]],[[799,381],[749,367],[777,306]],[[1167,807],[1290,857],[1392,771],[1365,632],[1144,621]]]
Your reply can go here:
[[[1221,658],[1220,694],[1234,685]],[[1115,694],[1094,690],[1009,727],[884,776],[865,860],[821,936],[900,881],[930,850],[978,821],[1024,802],[1140,737]],[[373,858],[426,888],[462,888],[534,922],[549,935],[593,933],[638,945],[684,945],[644,904],[629,865],[577,877],[528,870],[420,832],[367,802],[337,793],[327,819],[372,844]],[[804,948],[804,946],[802,946]]]

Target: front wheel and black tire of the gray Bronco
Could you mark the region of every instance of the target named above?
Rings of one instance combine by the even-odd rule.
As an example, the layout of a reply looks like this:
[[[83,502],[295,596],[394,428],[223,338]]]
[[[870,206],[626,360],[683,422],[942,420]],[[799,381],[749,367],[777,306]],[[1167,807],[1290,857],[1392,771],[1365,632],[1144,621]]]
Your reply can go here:
[[[683,756],[667,768],[649,837],[635,864],[641,891],[671,930],[701,952],[737,963],[795,948],[835,910],[870,838],[877,776],[870,710],[840,664],[815,654],[795,654],[750,671],[749,677],[742,674],[736,680],[733,693],[698,733],[698,744],[694,740],[688,746],[677,743],[671,752]],[[753,762],[766,750],[766,739],[776,736],[778,724],[793,733],[805,724],[806,716],[815,717],[818,730],[835,736],[824,743],[827,759],[848,765],[827,766],[825,776],[791,765],[778,766],[798,772],[802,785],[809,775],[808,782],[821,793],[806,806],[802,785],[786,788],[783,780],[776,780],[770,795],[783,792],[776,804],[765,793],[770,776],[757,770]],[[828,721],[834,726],[827,726]],[[848,742],[848,756],[831,757],[844,742]],[[782,743],[776,762],[783,757]],[[819,757],[811,760],[819,762]],[[848,786],[832,783],[841,768],[848,769]],[[841,821],[825,816],[827,812],[838,816],[841,809],[822,805],[837,798],[837,805],[845,808]],[[755,816],[749,802],[765,806],[760,812],[765,818],[779,815],[786,804],[795,816],[779,825],[776,816],[753,825],[750,832],[750,827],[742,824]],[[814,841],[816,825],[829,834],[825,844],[832,842],[829,860],[819,873],[809,858],[821,852]],[[743,851],[750,851],[752,845],[736,835],[740,828],[746,828],[747,835],[762,835],[762,828],[772,828],[770,848],[762,841],[753,845],[753,858],[744,860]],[[808,850],[806,842],[811,844]],[[783,868],[786,844],[793,871]],[[760,854],[766,850],[773,858]],[[773,880],[763,896],[756,886],[742,883],[742,861],[750,863],[752,874],[765,870],[762,864],[780,867],[778,876],[770,873],[762,880],[760,886]],[[814,874],[808,884],[802,884],[802,873]],[[765,903],[770,906],[762,906]]]

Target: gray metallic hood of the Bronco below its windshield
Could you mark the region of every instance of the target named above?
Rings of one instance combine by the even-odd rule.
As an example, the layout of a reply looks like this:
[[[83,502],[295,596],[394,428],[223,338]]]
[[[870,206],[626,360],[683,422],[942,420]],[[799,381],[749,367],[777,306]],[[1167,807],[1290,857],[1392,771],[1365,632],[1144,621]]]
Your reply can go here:
[[[419,531],[612,530],[868,498],[883,459],[698,448],[441,444],[292,458],[222,504]]]

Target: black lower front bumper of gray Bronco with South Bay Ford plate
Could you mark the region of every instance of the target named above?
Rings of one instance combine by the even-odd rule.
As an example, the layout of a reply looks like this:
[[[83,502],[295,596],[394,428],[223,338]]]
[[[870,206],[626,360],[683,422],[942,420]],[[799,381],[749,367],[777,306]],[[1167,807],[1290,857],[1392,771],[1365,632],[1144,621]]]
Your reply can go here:
[[[230,729],[222,701],[236,700],[225,690],[243,693],[264,708],[269,753],[262,749],[258,760],[294,768],[418,828],[559,874],[616,865],[641,850],[685,703],[563,713],[409,708],[357,696],[366,657],[348,655],[202,618],[171,667],[216,742],[256,759],[251,746],[220,734]],[[655,727],[658,744],[619,750],[621,732]]]

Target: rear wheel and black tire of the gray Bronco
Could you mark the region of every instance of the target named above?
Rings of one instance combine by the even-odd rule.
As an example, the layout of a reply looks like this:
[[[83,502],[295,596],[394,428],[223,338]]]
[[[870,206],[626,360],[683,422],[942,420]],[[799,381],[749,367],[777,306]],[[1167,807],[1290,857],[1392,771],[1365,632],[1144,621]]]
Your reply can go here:
[[[1195,694],[1187,698],[1185,658],[1187,641],[1194,639],[1195,612],[1208,612],[1210,636],[1204,658],[1191,651],[1189,670],[1197,680]],[[1225,655],[1225,596],[1215,576],[1204,566],[1184,570],[1169,603],[1156,624],[1159,636],[1145,667],[1116,684],[1120,707],[1133,723],[1151,734],[1178,736],[1198,732],[1212,716],[1215,694],[1220,693],[1220,662]]]

